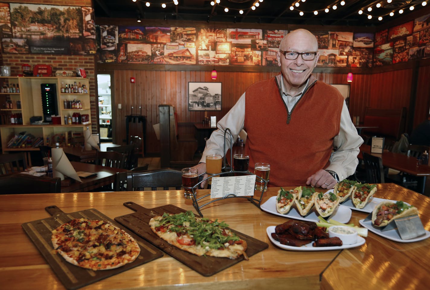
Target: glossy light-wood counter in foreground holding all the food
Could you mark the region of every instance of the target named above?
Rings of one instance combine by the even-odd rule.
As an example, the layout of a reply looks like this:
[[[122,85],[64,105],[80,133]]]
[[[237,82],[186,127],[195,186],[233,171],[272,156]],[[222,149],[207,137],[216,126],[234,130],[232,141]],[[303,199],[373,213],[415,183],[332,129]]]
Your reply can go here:
[[[290,187],[287,187],[290,188]],[[276,195],[269,188],[263,201]],[[201,190],[198,194],[207,193]],[[49,193],[0,196],[0,281],[3,289],[64,289],[21,228],[21,224],[49,217],[46,206],[56,205],[64,212],[95,208],[110,218],[132,213],[123,202],[136,202],[146,208],[166,204],[195,209],[183,190]],[[416,205],[426,230],[430,230],[430,198],[396,184],[378,184],[375,196],[401,199]],[[226,221],[235,230],[269,245],[264,251],[210,277],[165,254],[150,263],[98,281],[83,290],[98,289],[427,289],[430,284],[430,239],[399,243],[369,231],[366,243],[338,251],[286,251],[274,246],[266,235],[268,226],[287,219],[261,211],[245,199],[227,199],[202,208],[205,217]],[[352,211],[350,222],[358,224],[367,214]]]

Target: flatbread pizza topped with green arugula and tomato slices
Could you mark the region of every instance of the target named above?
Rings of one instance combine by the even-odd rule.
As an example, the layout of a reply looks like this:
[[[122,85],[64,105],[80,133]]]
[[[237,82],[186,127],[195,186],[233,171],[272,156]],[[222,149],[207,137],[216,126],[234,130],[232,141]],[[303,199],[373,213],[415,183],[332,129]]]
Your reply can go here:
[[[197,256],[236,259],[245,253],[247,243],[218,220],[196,217],[192,211],[156,216],[149,221],[151,230],[161,239]]]

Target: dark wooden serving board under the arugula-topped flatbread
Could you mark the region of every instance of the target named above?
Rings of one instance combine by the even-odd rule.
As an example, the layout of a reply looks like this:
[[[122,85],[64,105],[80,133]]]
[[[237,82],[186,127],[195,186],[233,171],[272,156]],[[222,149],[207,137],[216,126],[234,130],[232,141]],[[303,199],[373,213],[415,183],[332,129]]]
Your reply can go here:
[[[163,215],[163,213],[169,214],[178,214],[184,212],[185,210],[182,208],[178,208],[175,205],[163,205],[157,208],[144,208],[134,202],[124,202],[124,205],[128,208],[135,210],[136,212],[132,214],[126,214],[120,217],[115,217],[115,221],[129,228],[137,235],[151,242],[157,248],[165,251],[170,256],[174,257],[179,262],[187,265],[194,271],[200,273],[203,276],[211,276],[215,273],[218,273],[230,266],[233,266],[236,263],[244,260],[243,256],[240,256],[237,259],[231,260],[228,258],[217,258],[217,257],[209,257],[209,256],[197,256],[191,254],[186,251],[182,251],[181,249],[176,248],[173,245],[170,245],[168,242],[161,239],[157,236],[149,226],[149,221],[152,217],[157,215]],[[231,229],[230,229],[231,230]],[[248,248],[246,250],[246,254],[248,257],[251,257],[254,254],[257,254],[264,249],[267,249],[269,245],[265,242],[261,242],[258,239],[255,239],[251,236],[247,236],[243,233],[239,233],[235,230],[232,230],[241,239],[244,239]]]

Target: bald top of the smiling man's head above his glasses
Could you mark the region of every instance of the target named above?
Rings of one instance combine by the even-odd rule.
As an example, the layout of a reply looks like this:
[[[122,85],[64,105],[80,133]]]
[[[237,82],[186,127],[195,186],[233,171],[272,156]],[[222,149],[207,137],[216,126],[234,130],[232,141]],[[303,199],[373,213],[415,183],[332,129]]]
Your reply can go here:
[[[298,50],[298,47],[306,46],[307,50]],[[279,49],[283,51],[318,51],[318,40],[306,29],[296,29],[288,33],[281,41]]]

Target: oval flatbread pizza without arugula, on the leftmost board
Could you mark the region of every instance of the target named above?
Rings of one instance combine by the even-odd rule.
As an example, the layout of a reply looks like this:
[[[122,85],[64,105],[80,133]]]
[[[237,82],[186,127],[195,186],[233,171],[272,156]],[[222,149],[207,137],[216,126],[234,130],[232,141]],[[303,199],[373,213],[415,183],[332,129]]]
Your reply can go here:
[[[52,231],[51,242],[64,260],[91,270],[109,270],[133,262],[140,254],[135,239],[105,221],[74,219]]]

